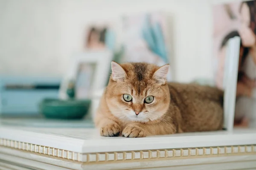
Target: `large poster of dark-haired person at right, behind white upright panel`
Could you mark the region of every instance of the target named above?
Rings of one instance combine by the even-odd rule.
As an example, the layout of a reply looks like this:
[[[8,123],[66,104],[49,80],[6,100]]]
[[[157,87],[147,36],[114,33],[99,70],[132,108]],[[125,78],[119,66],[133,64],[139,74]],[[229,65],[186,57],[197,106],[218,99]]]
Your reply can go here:
[[[234,124],[256,127],[256,0],[214,6],[213,22],[215,83],[224,89],[228,42],[240,37]]]

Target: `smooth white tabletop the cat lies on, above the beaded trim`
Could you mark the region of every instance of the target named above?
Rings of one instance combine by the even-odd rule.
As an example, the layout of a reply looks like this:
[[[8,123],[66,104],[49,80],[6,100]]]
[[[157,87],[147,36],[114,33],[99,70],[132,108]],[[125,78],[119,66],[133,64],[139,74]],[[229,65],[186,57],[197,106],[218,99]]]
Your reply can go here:
[[[41,122],[42,123],[42,122]],[[48,122],[49,123],[49,122]],[[75,124],[61,122],[60,124]],[[79,122],[83,123],[83,122]],[[84,122],[86,123],[86,122]],[[42,123],[43,124],[43,123]],[[47,125],[47,123],[45,123]],[[148,136],[145,138],[104,137],[93,127],[29,127],[2,123],[0,139],[70,150],[78,153],[148,150],[184,147],[231,146],[256,144],[255,129],[235,129],[199,133]]]

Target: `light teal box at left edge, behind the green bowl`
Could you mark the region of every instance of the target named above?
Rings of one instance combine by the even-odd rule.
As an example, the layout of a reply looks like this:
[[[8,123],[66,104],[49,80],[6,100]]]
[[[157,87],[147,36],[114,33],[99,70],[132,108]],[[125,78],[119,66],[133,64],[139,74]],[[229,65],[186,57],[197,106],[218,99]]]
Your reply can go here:
[[[0,115],[39,115],[43,99],[58,99],[60,82],[60,78],[0,77]]]

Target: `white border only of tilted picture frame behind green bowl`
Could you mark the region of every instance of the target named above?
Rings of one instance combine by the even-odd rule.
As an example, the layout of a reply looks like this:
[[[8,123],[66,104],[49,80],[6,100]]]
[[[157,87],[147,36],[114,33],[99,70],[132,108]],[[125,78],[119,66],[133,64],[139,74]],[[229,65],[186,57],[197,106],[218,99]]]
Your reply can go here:
[[[64,76],[59,90],[60,99],[68,99],[67,89],[70,81],[78,81],[79,72],[81,71],[81,65],[93,65],[93,78],[90,79],[90,91],[86,96],[77,97],[77,89],[75,90],[76,99],[91,99],[90,113],[94,113],[99,105],[100,96],[96,94],[102,94],[108,81],[111,59],[113,58],[113,52],[108,49],[103,50],[90,50],[84,53],[76,54],[71,58],[70,68],[67,74]],[[88,79],[81,79],[80,81],[88,81]],[[88,85],[88,84],[87,84]],[[87,86],[88,87],[88,86]]]

